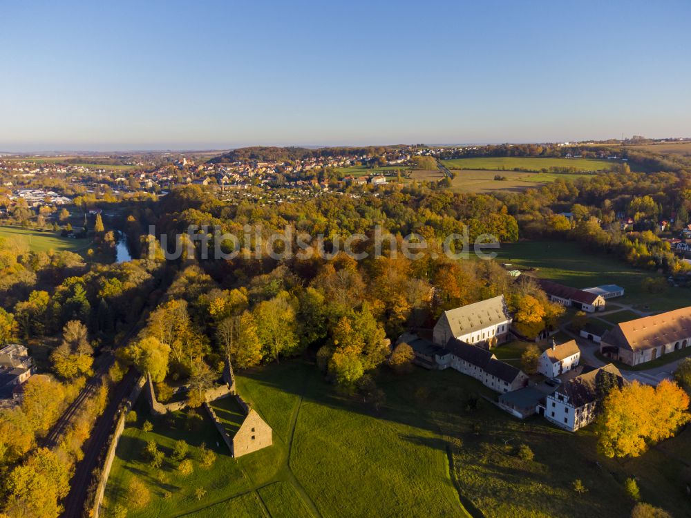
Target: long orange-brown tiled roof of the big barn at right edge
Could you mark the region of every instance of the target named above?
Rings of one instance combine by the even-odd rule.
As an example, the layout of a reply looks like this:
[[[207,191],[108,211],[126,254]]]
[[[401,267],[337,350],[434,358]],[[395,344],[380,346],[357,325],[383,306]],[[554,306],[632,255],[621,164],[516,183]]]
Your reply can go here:
[[[638,351],[691,338],[691,306],[629,320],[609,329],[603,343]]]

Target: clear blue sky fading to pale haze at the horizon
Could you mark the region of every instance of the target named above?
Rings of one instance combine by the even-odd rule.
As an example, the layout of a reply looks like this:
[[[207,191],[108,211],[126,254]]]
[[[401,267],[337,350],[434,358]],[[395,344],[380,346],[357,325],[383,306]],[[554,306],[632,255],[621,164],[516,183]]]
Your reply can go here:
[[[691,2],[0,0],[0,151],[691,136]]]

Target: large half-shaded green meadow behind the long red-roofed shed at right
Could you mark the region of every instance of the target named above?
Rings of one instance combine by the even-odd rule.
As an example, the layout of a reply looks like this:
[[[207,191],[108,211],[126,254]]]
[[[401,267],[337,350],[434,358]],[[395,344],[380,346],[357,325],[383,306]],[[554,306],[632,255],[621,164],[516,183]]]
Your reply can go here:
[[[502,244],[497,260],[515,267],[536,268],[531,275],[548,278],[574,288],[616,284],[625,288],[625,296],[608,303],[634,305],[645,311],[668,311],[689,305],[691,291],[668,287],[662,294],[649,294],[641,283],[647,277],[659,277],[652,270],[636,269],[616,256],[585,251],[571,241],[522,241]]]

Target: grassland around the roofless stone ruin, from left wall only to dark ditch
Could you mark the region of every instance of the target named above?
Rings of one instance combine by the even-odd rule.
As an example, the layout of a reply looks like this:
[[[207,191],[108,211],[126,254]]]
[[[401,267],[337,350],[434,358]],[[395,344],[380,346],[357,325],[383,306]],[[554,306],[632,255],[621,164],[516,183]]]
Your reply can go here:
[[[274,445],[232,459],[225,445],[217,444],[220,438],[206,416],[198,420],[178,412],[171,425],[166,418],[147,416],[140,403],[140,422],[126,428],[117,448],[106,506],[122,503],[135,518],[465,516],[449,478],[444,442],[425,428],[426,421],[403,396],[392,396],[390,416],[380,419],[334,392],[312,364],[269,365],[238,374],[237,380],[243,397],[274,428]],[[142,430],[144,419],[153,423],[151,432]],[[169,460],[181,438],[195,459],[187,477]],[[166,453],[161,470],[142,456],[151,439]],[[196,460],[202,441],[218,454],[211,470]],[[128,500],[127,486],[135,476],[151,490],[146,508],[134,509]],[[194,496],[199,487],[207,490],[200,501]],[[262,512],[254,508],[254,497]]]

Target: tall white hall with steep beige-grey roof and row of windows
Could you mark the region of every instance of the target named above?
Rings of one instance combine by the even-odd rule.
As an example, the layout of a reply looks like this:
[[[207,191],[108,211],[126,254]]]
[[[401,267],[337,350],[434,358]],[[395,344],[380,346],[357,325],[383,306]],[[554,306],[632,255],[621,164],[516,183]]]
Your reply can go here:
[[[473,345],[486,345],[491,338],[502,343],[509,334],[511,315],[504,296],[444,311],[434,327],[434,342],[444,347],[457,338]]]

